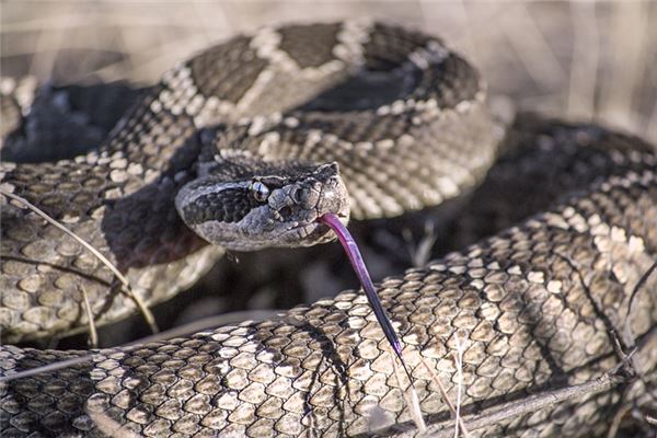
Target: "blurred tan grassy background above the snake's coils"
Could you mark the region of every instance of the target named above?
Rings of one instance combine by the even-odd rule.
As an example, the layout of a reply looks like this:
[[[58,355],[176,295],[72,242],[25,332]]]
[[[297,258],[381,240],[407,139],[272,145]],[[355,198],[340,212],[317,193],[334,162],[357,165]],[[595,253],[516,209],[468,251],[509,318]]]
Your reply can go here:
[[[522,107],[657,139],[655,1],[3,0],[1,74],[151,84],[235,33],[345,18],[442,36]]]

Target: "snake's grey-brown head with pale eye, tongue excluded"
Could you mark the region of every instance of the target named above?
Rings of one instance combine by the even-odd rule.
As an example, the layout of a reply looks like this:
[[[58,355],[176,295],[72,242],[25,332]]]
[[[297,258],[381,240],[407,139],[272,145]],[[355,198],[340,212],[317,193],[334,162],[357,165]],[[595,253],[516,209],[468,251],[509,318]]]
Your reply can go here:
[[[318,219],[328,212],[345,224],[349,219],[337,163],[222,161],[183,186],[175,204],[187,227],[233,251],[327,242],[334,234]]]

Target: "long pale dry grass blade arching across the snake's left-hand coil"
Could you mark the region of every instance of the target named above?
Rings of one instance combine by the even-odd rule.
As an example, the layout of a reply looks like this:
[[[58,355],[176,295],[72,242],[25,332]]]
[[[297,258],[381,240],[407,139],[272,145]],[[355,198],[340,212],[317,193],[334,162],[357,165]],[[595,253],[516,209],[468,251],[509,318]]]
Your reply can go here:
[[[122,290],[128,297],[130,297],[130,299],[132,301],[135,301],[135,304],[137,306],[137,308],[141,312],[141,314],[143,315],[143,319],[148,323],[148,325],[151,328],[151,331],[153,333],[158,333],[160,331],[158,328],[158,324],[155,322],[155,318],[153,316],[152,312],[148,309],[148,307],[141,300],[141,298],[139,298],[132,291],[132,289],[130,288],[130,284],[128,283],[128,279],[99,250],[96,250],[95,247],[93,247],[91,244],[89,244],[87,241],[84,241],[82,238],[80,238],[78,234],[76,234],[74,232],[72,232],[71,230],[69,230],[68,228],[66,228],[65,226],[62,226],[61,223],[59,223],[58,221],[56,221],[55,219],[53,219],[45,211],[41,210],[35,205],[31,204],[27,199],[25,199],[25,198],[23,198],[21,196],[14,195],[13,193],[9,193],[9,192],[7,192],[7,191],[4,191],[2,188],[0,188],[0,195],[7,196],[8,198],[13,199],[16,203],[19,203],[19,204],[27,207],[30,210],[34,211],[35,214],[37,214],[38,216],[41,216],[42,218],[44,218],[48,223],[50,223],[51,226],[56,227],[57,229],[59,229],[64,233],[70,235],[73,240],[76,240],[76,242],[80,243],[87,251],[89,251],[90,253],[92,253],[97,260],[101,261],[101,263],[103,263],[110,270],[112,270],[112,273],[114,274],[114,276],[116,278],[118,278],[118,280],[123,285]]]

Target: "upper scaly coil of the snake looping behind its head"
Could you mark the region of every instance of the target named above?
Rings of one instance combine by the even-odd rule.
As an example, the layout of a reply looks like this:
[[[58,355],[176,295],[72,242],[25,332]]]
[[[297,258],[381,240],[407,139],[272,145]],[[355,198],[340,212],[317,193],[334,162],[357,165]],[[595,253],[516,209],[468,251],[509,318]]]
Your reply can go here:
[[[341,84],[364,67],[378,70],[373,79]],[[324,93],[332,87],[338,91]],[[318,94],[313,107],[295,110]],[[251,117],[223,135],[222,150],[337,161],[351,217],[378,218],[439,204],[481,178],[504,134],[484,97],[474,68],[419,33],[359,23],[263,30],[165,73],[100,152],[2,162],[0,187],[101,251],[150,306],[184,289],[221,253],[204,247],[174,208],[180,187],[196,176],[197,129]],[[1,219],[3,342],[85,330],[82,287],[97,325],[135,312],[112,273],[69,237],[13,203],[2,205]]]

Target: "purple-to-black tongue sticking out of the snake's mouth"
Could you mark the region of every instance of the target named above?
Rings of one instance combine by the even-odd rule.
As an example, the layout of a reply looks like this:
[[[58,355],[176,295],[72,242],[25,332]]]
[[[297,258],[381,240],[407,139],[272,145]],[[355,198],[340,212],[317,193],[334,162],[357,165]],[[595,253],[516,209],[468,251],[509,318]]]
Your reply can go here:
[[[392,349],[400,358],[402,366],[406,373],[408,370],[406,369],[406,364],[404,362],[404,358],[402,357],[402,346],[397,335],[390,322],[390,319],[385,314],[385,310],[381,306],[381,301],[379,301],[379,296],[374,290],[374,285],[367,272],[367,267],[365,266],[365,262],[362,261],[362,256],[360,255],[360,251],[358,250],[358,245],[356,245],[356,241],[349,233],[349,230],[339,221],[338,217],[333,214],[326,214],[319,219],[320,222],[324,223],[328,228],[331,228],[335,234],[337,234],[337,239],[342,243],[345,252],[349,256],[349,262],[351,262],[351,266],[360,280],[360,285],[362,286],[362,290],[365,291],[365,296],[370,303],[370,307],[374,311],[374,315],[377,315],[377,320],[379,324],[381,324],[381,328],[383,330],[383,334],[388,338],[390,345],[392,345]],[[408,376],[411,378],[411,376]],[[412,381],[412,380],[411,380]]]

